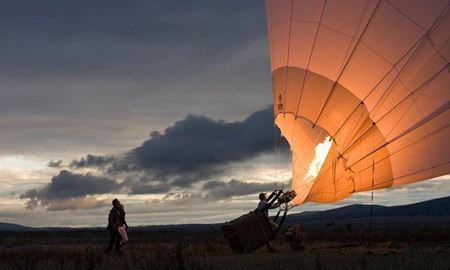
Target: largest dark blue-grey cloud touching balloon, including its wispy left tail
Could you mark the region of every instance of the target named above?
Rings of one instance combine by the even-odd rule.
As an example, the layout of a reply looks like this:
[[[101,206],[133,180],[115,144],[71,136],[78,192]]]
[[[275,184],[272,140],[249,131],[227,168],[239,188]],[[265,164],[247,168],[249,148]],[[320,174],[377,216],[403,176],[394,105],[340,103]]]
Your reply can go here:
[[[188,115],[162,134],[151,132],[141,146],[120,158],[87,155],[70,167],[98,167],[111,177],[124,173],[123,185],[130,193],[163,193],[170,190],[167,184],[190,187],[223,173],[230,163],[273,150],[274,132],[279,134],[271,108],[236,122]]]

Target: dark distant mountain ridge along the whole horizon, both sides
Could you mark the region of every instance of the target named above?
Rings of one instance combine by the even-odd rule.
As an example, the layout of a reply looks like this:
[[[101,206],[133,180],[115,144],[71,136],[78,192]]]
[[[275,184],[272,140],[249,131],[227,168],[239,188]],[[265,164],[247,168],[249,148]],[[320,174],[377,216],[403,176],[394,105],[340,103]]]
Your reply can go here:
[[[322,220],[344,220],[352,218],[367,218],[370,215],[370,205],[354,204],[344,207],[339,207],[325,211],[305,211],[298,214],[290,214],[287,217],[288,222],[295,221],[322,221]],[[373,205],[373,217],[450,217],[450,196],[407,204],[400,206],[381,206]],[[134,229],[146,230],[149,228],[159,229],[195,229],[205,230],[220,224],[179,224],[179,225],[153,225],[153,226],[138,226]],[[0,231],[43,231],[43,230],[78,230],[79,228],[68,227],[45,227],[34,228],[27,227],[13,223],[0,222]],[[89,228],[104,230],[104,228]]]

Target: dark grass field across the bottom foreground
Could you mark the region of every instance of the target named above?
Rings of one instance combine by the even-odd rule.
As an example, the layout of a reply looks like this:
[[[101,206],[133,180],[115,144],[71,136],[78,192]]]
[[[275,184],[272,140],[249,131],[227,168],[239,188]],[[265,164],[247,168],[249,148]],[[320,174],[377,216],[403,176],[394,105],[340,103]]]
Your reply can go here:
[[[122,255],[107,255],[103,230],[0,233],[0,269],[449,269],[447,227],[352,231],[306,228],[304,250],[291,251],[279,235],[265,247],[233,254],[215,228],[136,229]],[[372,241],[369,243],[369,238]]]

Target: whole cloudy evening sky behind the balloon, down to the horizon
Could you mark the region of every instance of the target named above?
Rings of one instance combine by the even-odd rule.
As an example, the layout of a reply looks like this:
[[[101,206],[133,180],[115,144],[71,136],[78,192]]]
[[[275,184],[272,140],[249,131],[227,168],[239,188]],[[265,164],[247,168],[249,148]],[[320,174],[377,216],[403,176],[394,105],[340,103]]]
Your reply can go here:
[[[116,197],[132,225],[223,222],[289,186],[264,1],[3,1],[0,33],[0,222],[106,226]]]

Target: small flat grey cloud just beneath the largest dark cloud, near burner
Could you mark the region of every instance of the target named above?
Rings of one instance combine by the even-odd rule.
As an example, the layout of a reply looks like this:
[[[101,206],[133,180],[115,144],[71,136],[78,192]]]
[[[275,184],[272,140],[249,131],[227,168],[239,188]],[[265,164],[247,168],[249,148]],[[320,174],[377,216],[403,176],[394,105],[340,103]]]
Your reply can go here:
[[[211,181],[203,185],[203,190],[209,191],[206,194],[208,199],[227,199],[233,196],[244,196],[271,191],[273,183],[255,183],[238,180],[229,182]]]

